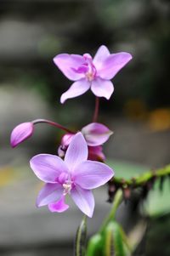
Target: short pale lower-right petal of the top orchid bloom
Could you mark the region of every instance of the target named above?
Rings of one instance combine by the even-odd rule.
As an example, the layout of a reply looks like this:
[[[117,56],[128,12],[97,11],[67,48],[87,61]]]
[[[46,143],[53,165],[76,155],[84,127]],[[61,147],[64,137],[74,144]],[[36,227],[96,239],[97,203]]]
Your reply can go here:
[[[91,90],[93,91],[94,95],[98,97],[105,97],[105,99],[109,100],[114,91],[114,87],[111,81],[97,77],[92,82]]]

